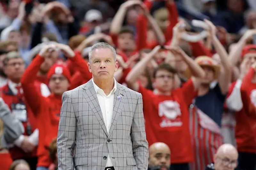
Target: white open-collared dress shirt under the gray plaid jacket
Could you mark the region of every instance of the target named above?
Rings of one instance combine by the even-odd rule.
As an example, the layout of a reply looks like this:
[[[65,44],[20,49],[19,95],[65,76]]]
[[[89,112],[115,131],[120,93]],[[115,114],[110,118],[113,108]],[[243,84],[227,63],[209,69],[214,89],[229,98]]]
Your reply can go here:
[[[99,100],[100,109],[103,115],[103,119],[105,122],[105,126],[107,128],[107,132],[109,133],[109,129],[111,126],[112,115],[113,115],[113,107],[114,107],[114,93],[116,91],[116,79],[114,78],[114,88],[108,94],[108,96],[104,93],[104,91],[98,87],[92,78],[92,84],[97,94],[97,98]],[[110,156],[108,154],[106,167],[113,166]]]

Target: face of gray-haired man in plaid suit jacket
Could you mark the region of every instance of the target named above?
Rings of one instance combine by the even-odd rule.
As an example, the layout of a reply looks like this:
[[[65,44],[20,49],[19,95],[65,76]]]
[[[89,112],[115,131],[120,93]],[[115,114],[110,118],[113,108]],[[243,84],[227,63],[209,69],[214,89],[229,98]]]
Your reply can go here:
[[[118,63],[115,61],[111,49],[99,48],[93,50],[88,67],[94,78],[109,79],[114,76]]]

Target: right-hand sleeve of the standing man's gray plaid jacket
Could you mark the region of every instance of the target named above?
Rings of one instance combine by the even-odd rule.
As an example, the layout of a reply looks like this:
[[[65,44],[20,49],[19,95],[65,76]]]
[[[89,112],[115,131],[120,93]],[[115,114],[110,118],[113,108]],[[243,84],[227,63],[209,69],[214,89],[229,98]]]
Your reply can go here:
[[[136,161],[137,168],[140,170],[148,169],[148,142],[143,116],[142,95],[138,94],[138,101],[132,120],[131,140],[132,152]]]

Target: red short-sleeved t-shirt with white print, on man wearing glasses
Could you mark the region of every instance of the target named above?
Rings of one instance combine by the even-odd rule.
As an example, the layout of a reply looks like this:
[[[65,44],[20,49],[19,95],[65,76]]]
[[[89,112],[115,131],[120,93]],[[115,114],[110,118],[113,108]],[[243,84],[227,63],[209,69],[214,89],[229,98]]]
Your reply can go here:
[[[196,97],[192,80],[172,91],[170,96],[155,95],[140,85],[148,144],[164,142],[171,149],[172,163],[193,162],[189,133],[188,106]]]

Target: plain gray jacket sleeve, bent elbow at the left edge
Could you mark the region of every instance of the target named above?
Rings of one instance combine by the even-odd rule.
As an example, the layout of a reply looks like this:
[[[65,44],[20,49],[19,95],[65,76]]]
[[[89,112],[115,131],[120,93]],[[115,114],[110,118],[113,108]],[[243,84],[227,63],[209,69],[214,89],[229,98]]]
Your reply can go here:
[[[24,133],[22,123],[11,113],[9,107],[0,98],[0,119],[4,122],[4,133],[1,137],[1,145],[8,148],[21,134]]]

